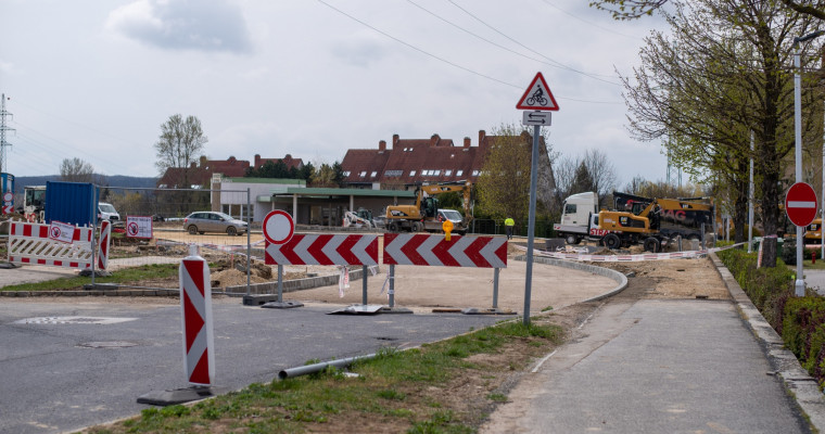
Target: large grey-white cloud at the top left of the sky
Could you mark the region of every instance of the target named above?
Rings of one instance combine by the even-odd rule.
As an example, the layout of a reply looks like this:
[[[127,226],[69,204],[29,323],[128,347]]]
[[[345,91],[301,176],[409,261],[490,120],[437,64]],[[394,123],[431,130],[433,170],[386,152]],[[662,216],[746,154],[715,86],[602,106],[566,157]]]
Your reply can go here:
[[[109,14],[106,28],[169,50],[249,52],[246,22],[226,0],[137,0]]]

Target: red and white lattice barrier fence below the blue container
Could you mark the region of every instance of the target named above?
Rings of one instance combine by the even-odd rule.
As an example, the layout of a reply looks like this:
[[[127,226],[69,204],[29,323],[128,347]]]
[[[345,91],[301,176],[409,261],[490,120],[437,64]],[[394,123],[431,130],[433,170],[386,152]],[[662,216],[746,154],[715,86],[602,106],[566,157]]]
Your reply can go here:
[[[13,221],[9,261],[68,268],[91,268],[91,228],[76,228],[71,243],[49,238],[49,225]]]

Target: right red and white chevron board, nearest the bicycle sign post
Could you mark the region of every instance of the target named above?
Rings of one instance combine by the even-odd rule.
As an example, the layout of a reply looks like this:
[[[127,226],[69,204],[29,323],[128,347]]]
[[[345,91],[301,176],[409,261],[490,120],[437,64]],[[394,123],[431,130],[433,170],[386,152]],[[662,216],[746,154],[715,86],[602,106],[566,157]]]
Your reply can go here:
[[[384,264],[507,268],[504,237],[450,237],[386,233]]]

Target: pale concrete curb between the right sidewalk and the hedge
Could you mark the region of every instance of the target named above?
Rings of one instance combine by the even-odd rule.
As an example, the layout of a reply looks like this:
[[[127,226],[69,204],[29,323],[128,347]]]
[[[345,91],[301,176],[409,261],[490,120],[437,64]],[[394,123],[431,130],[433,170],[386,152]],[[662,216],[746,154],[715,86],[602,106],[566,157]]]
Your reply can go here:
[[[808,417],[811,426],[817,432],[823,432],[825,430],[825,395],[820,392],[816,380],[799,365],[794,353],[785,349],[782,336],[757,309],[719,256],[711,253],[710,258],[736,303],[739,315],[759,340],[767,361],[776,369],[776,374],[782,379],[786,391],[796,398],[797,405]]]

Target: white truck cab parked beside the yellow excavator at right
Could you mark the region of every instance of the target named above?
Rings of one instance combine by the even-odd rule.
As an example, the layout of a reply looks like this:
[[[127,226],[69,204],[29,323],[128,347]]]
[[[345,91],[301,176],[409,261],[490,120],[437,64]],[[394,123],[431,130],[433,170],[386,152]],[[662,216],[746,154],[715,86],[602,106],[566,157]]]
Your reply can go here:
[[[561,222],[553,229],[568,244],[579,244],[583,239],[601,239],[608,231],[598,226],[599,197],[593,192],[578,193],[564,200],[561,206]]]

